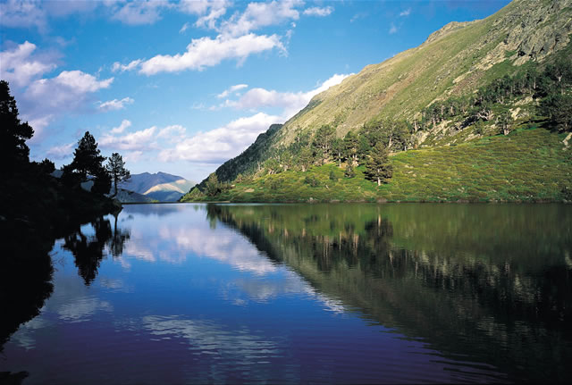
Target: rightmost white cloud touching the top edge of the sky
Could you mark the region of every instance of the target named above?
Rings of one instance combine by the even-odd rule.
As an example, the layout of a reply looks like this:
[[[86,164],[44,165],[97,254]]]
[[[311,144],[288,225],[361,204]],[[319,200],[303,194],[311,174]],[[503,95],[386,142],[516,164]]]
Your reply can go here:
[[[283,21],[298,20],[299,11],[296,7],[303,4],[300,0],[250,3],[244,13],[236,13],[229,20],[223,21],[221,32],[224,35],[239,36]]]

